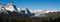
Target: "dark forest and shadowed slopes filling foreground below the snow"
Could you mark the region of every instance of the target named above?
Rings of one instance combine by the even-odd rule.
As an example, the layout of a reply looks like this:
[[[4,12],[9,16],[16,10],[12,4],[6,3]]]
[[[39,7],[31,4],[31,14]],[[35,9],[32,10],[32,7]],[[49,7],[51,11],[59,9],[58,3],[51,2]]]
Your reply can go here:
[[[30,15],[23,15],[17,12],[9,12],[9,14],[0,14],[0,22],[58,22],[60,20],[60,12],[45,13],[46,17],[29,18]]]

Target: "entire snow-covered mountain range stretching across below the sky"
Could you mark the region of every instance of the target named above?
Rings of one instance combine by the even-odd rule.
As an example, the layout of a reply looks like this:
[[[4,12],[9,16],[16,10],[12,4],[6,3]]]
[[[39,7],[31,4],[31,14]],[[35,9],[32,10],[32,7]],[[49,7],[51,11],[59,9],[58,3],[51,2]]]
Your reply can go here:
[[[0,14],[8,16],[33,16],[33,17],[45,17],[48,13],[60,12],[60,10],[28,10],[28,8],[16,8],[14,4],[0,4]]]

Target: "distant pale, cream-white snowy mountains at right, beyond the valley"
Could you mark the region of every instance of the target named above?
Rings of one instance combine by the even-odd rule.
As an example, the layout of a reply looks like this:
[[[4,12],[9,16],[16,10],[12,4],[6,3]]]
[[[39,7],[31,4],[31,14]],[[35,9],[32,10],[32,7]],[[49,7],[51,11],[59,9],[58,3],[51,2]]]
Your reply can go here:
[[[49,12],[53,13],[58,11],[60,10],[30,10],[30,12],[35,14],[35,16],[40,16],[40,15],[44,16],[45,13],[49,13]]]

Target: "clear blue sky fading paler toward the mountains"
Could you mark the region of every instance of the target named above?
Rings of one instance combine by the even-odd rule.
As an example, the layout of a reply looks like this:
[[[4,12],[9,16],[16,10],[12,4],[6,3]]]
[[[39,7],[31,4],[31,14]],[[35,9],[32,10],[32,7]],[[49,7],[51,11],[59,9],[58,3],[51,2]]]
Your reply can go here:
[[[60,0],[0,0],[0,3],[12,3],[17,8],[28,8],[29,10],[60,10]]]

